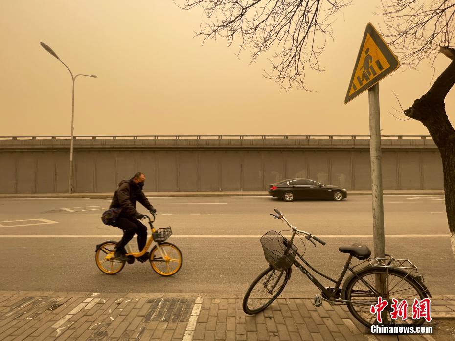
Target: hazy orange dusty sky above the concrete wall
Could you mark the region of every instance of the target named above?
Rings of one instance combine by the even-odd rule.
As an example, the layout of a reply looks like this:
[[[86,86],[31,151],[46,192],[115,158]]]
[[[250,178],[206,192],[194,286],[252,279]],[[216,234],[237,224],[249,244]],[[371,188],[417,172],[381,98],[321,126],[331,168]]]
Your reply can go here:
[[[167,0],[0,2],[0,136],[69,135],[71,78],[47,53],[49,45],[78,77],[75,135],[369,134],[368,95],[344,96],[368,22],[380,1],[354,1],[334,24],[320,58],[325,72],[308,72],[304,90],[280,91],[263,76],[264,57],[251,65],[227,41],[202,45],[194,31],[201,10]],[[417,121],[392,117],[412,105],[449,64],[401,69],[380,82],[384,135],[422,134]],[[455,110],[454,89],[446,110]],[[398,115],[398,113],[395,113]]]

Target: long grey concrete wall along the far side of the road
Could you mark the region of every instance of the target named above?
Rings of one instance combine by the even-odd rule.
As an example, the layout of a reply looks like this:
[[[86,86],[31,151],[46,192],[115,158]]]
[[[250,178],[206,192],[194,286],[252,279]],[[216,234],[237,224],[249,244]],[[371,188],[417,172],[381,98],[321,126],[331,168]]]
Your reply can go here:
[[[111,192],[137,171],[146,175],[146,191],[266,190],[295,177],[370,189],[368,140],[214,141],[77,140],[74,191]],[[432,141],[403,141],[383,142],[384,189],[443,189]],[[68,191],[68,140],[0,142],[0,193]]]

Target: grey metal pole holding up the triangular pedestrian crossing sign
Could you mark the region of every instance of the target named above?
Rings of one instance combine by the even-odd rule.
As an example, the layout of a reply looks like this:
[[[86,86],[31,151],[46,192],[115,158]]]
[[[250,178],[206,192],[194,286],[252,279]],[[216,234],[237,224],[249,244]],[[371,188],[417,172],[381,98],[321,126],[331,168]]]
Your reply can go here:
[[[381,168],[381,123],[379,119],[379,83],[368,89],[370,116],[371,198],[373,204],[374,256],[384,258],[384,202]]]

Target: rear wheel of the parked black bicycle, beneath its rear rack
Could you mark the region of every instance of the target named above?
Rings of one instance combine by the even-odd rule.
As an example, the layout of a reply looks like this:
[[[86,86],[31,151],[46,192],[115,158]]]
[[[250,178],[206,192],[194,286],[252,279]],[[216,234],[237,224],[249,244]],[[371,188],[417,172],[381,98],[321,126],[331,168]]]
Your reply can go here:
[[[384,278],[385,287],[381,292],[379,288],[380,278]],[[351,314],[362,324],[371,327],[378,324],[376,314],[370,312],[371,306],[378,303],[378,297],[382,297],[388,302],[385,314],[382,315],[382,324],[407,323],[409,325],[421,325],[425,319],[412,319],[412,304],[414,299],[428,297],[424,289],[411,275],[395,269],[371,268],[363,272],[353,274],[346,280],[343,288],[344,298],[348,301],[347,307]],[[392,298],[399,302],[405,300],[408,304],[407,319],[393,320],[390,317],[392,312]],[[386,320],[385,320],[386,319]]]

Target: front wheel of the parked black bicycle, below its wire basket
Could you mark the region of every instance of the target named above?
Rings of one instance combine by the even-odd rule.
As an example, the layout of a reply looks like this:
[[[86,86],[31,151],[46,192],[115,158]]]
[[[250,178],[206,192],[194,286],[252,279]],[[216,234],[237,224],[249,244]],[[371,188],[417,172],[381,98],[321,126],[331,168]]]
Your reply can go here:
[[[278,271],[269,267],[257,276],[243,297],[245,314],[257,314],[263,311],[283,291],[291,277],[291,268]]]

